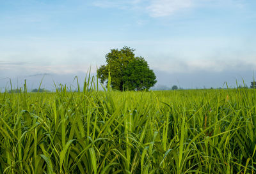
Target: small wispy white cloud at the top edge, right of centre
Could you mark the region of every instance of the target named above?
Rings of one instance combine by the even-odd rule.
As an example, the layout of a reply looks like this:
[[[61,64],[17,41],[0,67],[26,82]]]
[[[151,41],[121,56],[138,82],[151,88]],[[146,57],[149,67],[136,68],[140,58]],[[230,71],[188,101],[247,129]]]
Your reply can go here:
[[[152,0],[147,9],[151,17],[164,17],[192,6],[193,2],[191,0]]]

